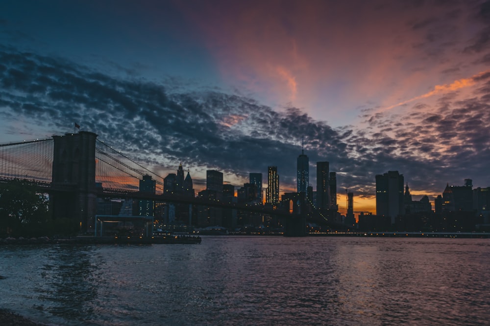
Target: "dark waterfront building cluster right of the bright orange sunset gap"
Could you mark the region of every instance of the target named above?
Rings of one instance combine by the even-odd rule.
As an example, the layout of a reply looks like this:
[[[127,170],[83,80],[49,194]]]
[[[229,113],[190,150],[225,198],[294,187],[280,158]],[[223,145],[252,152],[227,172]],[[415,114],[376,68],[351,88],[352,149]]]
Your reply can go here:
[[[490,187],[473,189],[472,180],[449,186],[434,198],[412,200],[403,174],[376,175],[376,215],[361,213],[359,228],[371,231],[472,232],[490,230]]]

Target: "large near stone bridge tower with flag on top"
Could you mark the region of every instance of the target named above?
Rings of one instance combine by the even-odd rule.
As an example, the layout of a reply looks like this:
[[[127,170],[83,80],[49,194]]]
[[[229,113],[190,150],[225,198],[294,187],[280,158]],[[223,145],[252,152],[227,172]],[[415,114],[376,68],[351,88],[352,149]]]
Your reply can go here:
[[[53,191],[49,196],[53,218],[73,218],[80,231],[87,232],[93,232],[97,213],[96,138],[89,131],[53,136]]]

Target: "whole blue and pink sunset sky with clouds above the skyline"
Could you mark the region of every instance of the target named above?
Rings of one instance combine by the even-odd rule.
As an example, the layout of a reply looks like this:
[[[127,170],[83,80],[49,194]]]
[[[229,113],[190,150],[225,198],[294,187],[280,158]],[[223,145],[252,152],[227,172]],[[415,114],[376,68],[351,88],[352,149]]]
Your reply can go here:
[[[329,161],[338,203],[375,175],[414,199],[490,186],[489,0],[0,2],[0,142],[81,130],[236,186]]]

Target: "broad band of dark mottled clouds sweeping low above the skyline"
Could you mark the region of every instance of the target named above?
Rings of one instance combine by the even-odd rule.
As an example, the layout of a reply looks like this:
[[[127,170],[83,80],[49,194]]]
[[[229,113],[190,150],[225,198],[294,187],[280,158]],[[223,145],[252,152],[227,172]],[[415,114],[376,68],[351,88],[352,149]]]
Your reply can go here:
[[[404,174],[411,189],[429,193],[464,178],[490,183],[489,71],[434,87],[425,94],[441,95],[434,106],[406,103],[408,110],[396,115],[367,110],[364,127],[333,128],[295,107],[278,112],[242,95],[169,90],[165,83],[115,78],[61,58],[0,48],[0,63],[4,123],[22,118],[50,136],[76,121],[162,173],[183,162],[196,184],[206,169],[223,171],[238,185],[249,172],[265,175],[275,165],[282,191],[294,190],[303,137],[310,183],[316,162],[327,160],[339,188],[356,196],[373,197],[375,174],[389,170]],[[471,97],[454,96],[470,84],[481,87]]]

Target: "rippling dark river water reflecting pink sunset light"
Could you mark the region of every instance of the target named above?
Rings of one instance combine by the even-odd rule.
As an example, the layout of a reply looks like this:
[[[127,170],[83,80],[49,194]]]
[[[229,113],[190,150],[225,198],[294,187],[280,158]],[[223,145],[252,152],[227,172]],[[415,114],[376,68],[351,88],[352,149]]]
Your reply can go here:
[[[489,325],[489,239],[203,237],[0,247],[0,308],[53,325]]]

